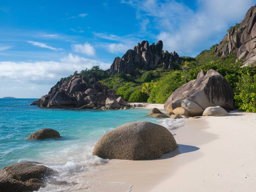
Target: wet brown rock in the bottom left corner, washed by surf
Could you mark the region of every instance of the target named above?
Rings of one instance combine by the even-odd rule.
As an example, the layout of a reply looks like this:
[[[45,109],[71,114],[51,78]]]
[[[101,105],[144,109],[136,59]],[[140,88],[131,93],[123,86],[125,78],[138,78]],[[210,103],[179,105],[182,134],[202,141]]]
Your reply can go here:
[[[44,187],[43,178],[53,170],[38,162],[23,162],[4,167],[0,170],[0,191],[36,191]]]

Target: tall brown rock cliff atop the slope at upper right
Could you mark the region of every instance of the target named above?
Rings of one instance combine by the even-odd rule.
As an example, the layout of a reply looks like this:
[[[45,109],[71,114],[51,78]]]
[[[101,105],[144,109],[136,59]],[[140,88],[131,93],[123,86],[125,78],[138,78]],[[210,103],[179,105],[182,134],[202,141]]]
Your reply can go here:
[[[231,52],[235,52],[239,60],[246,59],[242,67],[256,61],[256,6],[247,11],[240,26],[231,28],[214,50],[216,56]]]

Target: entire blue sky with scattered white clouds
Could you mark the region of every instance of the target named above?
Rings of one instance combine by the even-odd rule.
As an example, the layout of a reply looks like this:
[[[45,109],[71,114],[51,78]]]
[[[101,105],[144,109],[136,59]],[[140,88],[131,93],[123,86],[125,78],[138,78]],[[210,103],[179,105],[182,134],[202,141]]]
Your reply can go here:
[[[0,98],[39,98],[61,77],[99,65],[137,42],[196,56],[239,23],[253,1],[0,2]]]

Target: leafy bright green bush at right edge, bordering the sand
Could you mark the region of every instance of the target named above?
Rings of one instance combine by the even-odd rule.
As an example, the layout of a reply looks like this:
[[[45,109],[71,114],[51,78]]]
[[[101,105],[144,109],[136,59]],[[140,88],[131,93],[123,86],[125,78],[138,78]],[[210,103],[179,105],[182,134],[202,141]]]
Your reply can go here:
[[[237,83],[238,95],[235,95],[235,104],[240,111],[256,113],[256,74],[242,74]]]

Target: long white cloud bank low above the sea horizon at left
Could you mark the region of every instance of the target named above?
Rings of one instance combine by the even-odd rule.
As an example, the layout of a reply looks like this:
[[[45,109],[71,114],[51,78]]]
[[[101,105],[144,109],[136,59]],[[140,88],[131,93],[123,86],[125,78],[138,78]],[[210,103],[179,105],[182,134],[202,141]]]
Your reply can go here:
[[[60,61],[37,61],[37,62],[0,62],[0,79],[6,82],[55,84],[62,77],[73,74],[74,71],[90,69],[93,66],[108,69],[111,63],[93,60],[71,53]],[[30,87],[29,89],[36,89]]]

